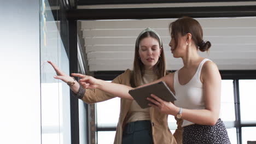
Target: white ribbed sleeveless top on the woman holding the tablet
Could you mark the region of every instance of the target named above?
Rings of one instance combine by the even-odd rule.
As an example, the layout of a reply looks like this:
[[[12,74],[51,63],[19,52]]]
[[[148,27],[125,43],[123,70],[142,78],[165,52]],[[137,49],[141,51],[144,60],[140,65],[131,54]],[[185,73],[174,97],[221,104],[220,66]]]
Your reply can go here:
[[[202,66],[206,61],[211,61],[210,59],[203,59],[202,62],[197,67],[196,73],[192,79],[185,85],[179,83],[178,73],[179,70],[175,71],[173,79],[173,87],[177,100],[174,101],[174,104],[178,107],[184,109],[205,109],[205,102],[203,99],[203,86],[200,80]],[[182,127],[187,125],[194,124],[187,120],[183,120]]]

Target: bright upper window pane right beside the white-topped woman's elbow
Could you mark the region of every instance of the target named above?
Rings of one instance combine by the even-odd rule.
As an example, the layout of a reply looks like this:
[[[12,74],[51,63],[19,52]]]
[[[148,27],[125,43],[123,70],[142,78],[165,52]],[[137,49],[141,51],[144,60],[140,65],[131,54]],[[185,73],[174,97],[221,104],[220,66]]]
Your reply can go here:
[[[235,121],[233,80],[222,80],[220,115],[223,121]]]

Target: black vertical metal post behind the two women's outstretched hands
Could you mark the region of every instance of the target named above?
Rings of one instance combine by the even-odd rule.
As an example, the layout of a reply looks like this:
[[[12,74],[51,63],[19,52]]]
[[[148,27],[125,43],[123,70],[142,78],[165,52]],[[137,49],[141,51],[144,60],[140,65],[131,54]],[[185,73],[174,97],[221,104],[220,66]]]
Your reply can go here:
[[[70,3],[72,1],[72,4]],[[77,21],[68,20],[66,10],[75,8],[75,0],[59,0],[60,13],[58,10],[52,10],[57,13],[55,20],[60,21],[60,35],[65,46],[69,59],[69,74],[78,72],[78,48],[77,48]],[[70,92],[70,115],[71,115],[71,143],[79,144],[79,106],[78,99]]]

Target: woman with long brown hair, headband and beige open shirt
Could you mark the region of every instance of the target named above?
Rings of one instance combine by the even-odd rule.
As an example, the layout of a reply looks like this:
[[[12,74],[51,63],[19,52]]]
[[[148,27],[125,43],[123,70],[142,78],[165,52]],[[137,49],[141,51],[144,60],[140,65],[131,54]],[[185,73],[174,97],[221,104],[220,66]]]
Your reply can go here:
[[[71,87],[76,97],[85,103],[97,103],[116,97],[100,89],[85,89],[79,86],[71,76],[63,74],[51,62],[57,76]],[[166,75],[164,48],[158,33],[147,28],[136,40],[133,70],[127,69],[116,77],[112,83],[119,83],[129,87],[138,87],[153,82]],[[181,143],[182,119],[177,119],[178,129],[172,135],[167,123],[167,114],[160,113],[154,107],[141,109],[135,100],[121,98],[120,115],[114,143]],[[174,138],[175,137],[175,138]],[[177,142],[176,142],[177,141]]]

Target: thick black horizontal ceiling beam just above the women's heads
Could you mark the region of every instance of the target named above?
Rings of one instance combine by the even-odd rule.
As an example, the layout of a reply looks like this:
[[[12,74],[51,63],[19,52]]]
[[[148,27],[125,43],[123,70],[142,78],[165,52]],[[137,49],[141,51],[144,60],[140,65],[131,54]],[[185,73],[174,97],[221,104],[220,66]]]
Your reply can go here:
[[[256,5],[177,8],[69,9],[69,20],[171,19],[190,17],[256,16]]]

